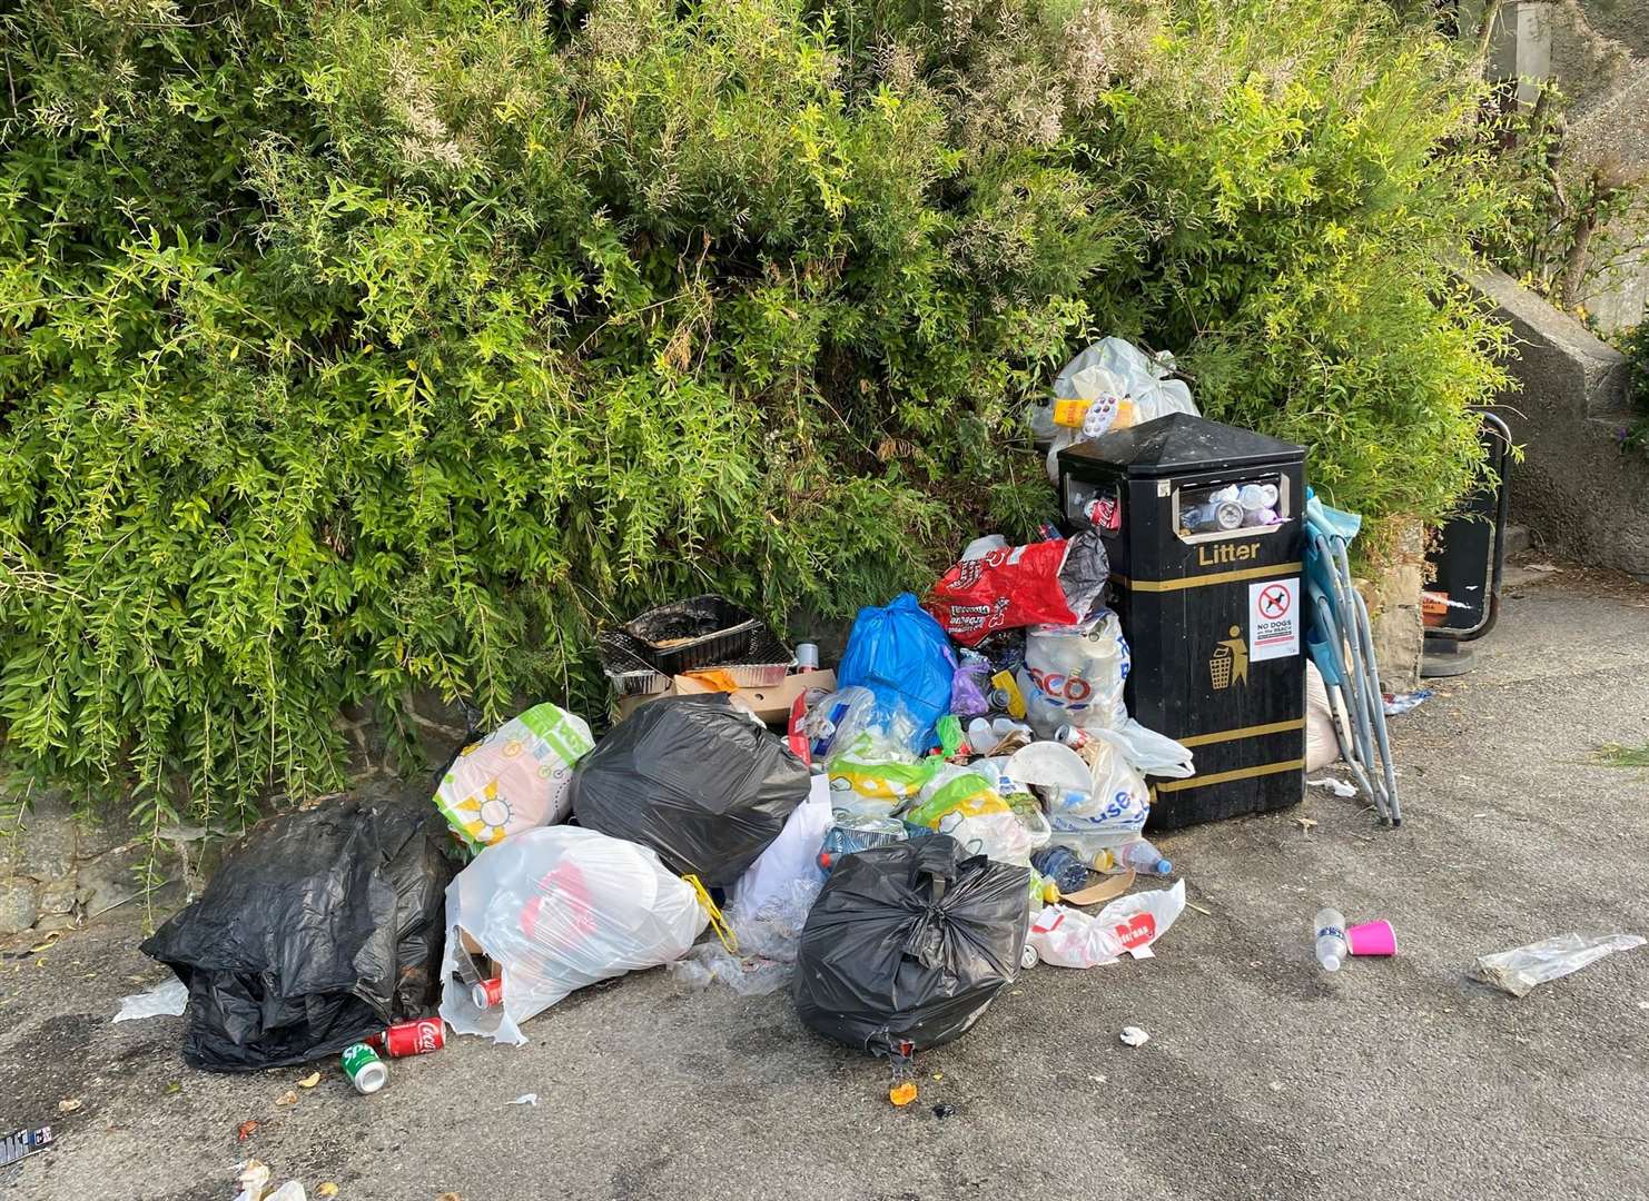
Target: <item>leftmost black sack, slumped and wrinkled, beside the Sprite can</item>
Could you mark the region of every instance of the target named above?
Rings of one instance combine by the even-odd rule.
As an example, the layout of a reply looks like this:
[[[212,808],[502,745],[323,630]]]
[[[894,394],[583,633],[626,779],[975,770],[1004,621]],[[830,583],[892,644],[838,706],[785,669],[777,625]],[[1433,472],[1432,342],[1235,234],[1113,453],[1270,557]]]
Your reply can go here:
[[[341,797],[252,830],[142,947],[190,988],[185,1061],[300,1064],[434,1010],[445,845],[424,801]]]

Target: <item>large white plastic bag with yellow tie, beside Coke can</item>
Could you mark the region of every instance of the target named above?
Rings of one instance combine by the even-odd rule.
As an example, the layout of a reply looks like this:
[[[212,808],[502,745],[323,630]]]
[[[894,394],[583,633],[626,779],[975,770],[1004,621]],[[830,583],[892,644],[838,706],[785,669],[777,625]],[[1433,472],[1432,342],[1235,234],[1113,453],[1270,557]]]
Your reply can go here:
[[[524,1043],[523,1021],[574,988],[681,957],[707,921],[648,847],[576,825],[524,830],[447,888],[440,1016],[460,1035]],[[463,936],[500,965],[498,1005],[470,995]]]

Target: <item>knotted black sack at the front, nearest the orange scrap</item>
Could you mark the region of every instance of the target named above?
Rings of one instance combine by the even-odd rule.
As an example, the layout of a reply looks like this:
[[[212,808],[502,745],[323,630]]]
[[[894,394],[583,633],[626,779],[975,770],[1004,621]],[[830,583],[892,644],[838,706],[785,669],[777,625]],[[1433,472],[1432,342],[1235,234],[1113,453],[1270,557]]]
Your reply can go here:
[[[876,1054],[968,1033],[1019,975],[1031,873],[937,834],[843,857],[796,956],[796,1012]]]

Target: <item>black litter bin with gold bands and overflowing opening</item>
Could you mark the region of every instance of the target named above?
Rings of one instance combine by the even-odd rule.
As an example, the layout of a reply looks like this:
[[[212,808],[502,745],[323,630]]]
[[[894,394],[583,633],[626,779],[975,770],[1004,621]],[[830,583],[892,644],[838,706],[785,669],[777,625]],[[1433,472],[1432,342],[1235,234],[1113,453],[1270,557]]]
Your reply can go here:
[[[1196,755],[1197,774],[1156,781],[1153,829],[1301,799],[1304,456],[1187,414],[1059,455],[1067,522],[1110,552],[1128,712]]]

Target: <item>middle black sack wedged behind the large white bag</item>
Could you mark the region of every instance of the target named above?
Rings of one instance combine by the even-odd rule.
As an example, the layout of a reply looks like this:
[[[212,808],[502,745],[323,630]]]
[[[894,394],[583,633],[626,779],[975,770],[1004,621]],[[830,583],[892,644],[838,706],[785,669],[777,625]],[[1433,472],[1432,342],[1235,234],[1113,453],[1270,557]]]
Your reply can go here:
[[[735,883],[806,797],[801,759],[722,694],[641,705],[572,773],[579,825],[709,888]]]

